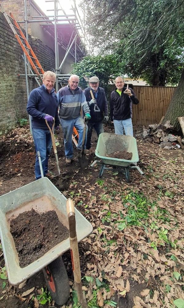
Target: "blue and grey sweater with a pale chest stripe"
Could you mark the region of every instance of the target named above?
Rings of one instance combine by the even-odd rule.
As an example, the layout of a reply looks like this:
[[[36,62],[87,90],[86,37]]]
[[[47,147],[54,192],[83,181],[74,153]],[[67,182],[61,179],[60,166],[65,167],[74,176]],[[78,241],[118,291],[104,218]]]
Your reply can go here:
[[[57,92],[59,104],[59,117],[61,119],[75,119],[80,116],[81,107],[84,113],[90,113],[86,97],[80,87],[71,91],[69,85],[59,89]]]

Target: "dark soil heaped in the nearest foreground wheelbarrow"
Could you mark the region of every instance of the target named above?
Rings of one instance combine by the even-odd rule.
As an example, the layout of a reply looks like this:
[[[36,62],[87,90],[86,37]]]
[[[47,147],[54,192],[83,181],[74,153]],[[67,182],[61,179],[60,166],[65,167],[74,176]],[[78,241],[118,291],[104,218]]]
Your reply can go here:
[[[55,211],[40,214],[34,209],[13,219],[10,232],[20,267],[29,265],[69,237],[68,229],[59,221]]]

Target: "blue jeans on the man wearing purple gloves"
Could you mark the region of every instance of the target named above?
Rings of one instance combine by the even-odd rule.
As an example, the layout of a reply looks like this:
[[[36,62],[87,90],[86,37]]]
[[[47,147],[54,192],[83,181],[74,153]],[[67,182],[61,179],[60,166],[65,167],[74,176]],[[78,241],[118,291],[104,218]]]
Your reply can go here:
[[[52,148],[52,138],[48,129],[32,128],[32,132],[36,151],[35,178],[38,180],[41,177],[41,172],[37,151],[40,152],[41,164],[45,176],[48,172],[48,159]]]

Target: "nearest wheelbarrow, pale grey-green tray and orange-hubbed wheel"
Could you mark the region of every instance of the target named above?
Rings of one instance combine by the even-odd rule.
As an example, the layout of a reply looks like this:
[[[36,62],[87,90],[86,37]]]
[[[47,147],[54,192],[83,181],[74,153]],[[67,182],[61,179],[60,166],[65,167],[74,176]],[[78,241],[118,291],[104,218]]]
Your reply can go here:
[[[66,201],[63,194],[46,177],[0,197],[0,237],[10,284],[19,285],[43,270],[48,290],[58,305],[67,302],[70,295],[69,280],[61,257],[64,252],[70,249],[69,235],[66,240],[55,245],[42,257],[21,268],[15,243],[10,233],[10,221],[20,213],[31,209],[35,209],[38,213],[54,210],[59,221],[69,229]],[[93,227],[77,209],[75,209],[75,220],[79,242],[92,232]]]

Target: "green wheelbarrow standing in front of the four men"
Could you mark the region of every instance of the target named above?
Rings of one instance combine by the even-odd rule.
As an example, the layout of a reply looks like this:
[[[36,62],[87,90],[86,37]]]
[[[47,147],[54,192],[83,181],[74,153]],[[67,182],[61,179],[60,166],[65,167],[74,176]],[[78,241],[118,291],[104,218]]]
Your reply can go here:
[[[114,152],[129,152],[132,153],[132,159],[119,159],[109,157],[109,154]],[[95,160],[91,165],[101,164],[99,177],[102,177],[104,170],[122,172],[125,174],[127,182],[130,181],[130,169],[137,169],[141,175],[144,172],[137,166],[139,161],[136,139],[132,136],[116,135],[111,133],[101,133],[98,137],[95,155],[101,160]]]

